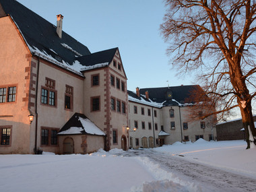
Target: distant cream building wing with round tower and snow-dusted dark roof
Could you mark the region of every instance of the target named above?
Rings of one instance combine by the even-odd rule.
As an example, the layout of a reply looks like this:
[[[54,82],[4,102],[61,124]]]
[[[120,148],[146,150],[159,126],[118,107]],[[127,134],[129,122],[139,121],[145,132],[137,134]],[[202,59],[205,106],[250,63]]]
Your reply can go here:
[[[176,141],[216,139],[213,117],[200,121],[189,119],[185,103],[197,86],[144,88],[129,91],[129,146],[153,148]]]

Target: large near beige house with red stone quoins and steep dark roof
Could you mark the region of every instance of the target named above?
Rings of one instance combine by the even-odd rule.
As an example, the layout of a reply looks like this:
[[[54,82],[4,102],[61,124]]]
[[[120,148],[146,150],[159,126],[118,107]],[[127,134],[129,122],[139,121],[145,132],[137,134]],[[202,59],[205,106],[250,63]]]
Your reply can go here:
[[[119,49],[90,53],[62,22],[63,15],[54,26],[18,1],[0,1],[0,154],[128,147]]]

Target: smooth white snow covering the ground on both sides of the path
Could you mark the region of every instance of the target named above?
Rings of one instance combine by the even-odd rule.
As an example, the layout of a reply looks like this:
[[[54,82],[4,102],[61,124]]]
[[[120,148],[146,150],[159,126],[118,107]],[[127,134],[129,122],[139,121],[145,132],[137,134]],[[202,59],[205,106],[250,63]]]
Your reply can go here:
[[[255,179],[256,148],[245,141],[174,143],[153,150],[100,150],[88,155],[1,155],[0,191],[203,191],[156,161],[128,153],[158,153]],[[161,157],[160,157],[161,158]],[[163,161],[164,162],[164,161]],[[255,187],[256,190],[256,187]]]

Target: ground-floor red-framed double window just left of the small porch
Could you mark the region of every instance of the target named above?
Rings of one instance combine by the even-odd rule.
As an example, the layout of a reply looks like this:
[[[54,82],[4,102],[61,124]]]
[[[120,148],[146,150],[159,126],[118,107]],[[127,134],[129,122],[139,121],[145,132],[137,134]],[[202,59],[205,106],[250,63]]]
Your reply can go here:
[[[53,133],[54,131],[54,133]],[[41,127],[40,129],[40,146],[41,147],[57,147],[59,141],[57,133],[59,128],[54,127]]]

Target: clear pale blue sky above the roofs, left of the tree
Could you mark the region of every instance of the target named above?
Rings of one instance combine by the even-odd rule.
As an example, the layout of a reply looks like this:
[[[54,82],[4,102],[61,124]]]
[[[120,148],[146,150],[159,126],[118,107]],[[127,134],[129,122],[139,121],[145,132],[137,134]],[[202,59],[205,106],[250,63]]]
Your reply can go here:
[[[177,77],[160,34],[166,7],[162,0],[18,0],[42,18],[86,45],[91,53],[119,47],[127,88],[191,85],[189,74]]]

